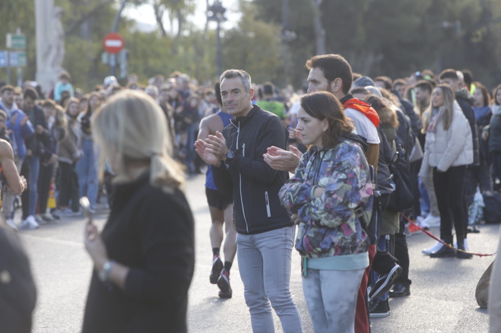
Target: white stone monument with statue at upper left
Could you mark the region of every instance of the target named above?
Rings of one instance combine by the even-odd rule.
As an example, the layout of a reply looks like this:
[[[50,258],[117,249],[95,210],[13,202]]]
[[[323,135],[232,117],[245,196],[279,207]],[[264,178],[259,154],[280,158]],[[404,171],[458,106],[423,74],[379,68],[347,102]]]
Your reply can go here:
[[[58,80],[63,70],[65,55],[63,10],[54,6],[54,0],[35,0],[37,35],[37,77],[44,91]]]

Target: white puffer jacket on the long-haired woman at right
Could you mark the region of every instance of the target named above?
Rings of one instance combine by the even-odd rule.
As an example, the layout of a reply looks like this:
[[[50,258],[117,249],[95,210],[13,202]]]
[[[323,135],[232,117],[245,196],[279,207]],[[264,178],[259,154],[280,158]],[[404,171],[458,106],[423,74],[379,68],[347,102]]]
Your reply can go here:
[[[435,132],[426,132],[424,157],[419,175],[427,177],[432,167],[445,172],[451,166],[471,163],[473,163],[471,128],[461,107],[454,101],[454,112],[449,129],[443,129],[443,111],[440,110]]]

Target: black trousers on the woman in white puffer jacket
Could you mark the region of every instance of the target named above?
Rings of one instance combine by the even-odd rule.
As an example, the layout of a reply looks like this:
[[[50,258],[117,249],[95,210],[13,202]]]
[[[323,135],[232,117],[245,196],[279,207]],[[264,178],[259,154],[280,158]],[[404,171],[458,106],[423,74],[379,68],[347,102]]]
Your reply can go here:
[[[440,238],[452,243],[452,223],[456,229],[456,238],[464,239],[467,215],[464,214],[464,184],[466,166],[451,166],[445,172],[433,168],[433,185],[440,211]]]

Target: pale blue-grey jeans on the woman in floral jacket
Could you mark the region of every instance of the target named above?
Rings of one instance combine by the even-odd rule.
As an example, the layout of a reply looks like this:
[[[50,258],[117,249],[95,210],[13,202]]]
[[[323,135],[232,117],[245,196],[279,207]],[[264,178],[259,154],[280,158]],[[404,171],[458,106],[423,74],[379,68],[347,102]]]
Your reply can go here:
[[[308,268],[303,292],[315,333],[355,331],[355,309],[364,271]]]

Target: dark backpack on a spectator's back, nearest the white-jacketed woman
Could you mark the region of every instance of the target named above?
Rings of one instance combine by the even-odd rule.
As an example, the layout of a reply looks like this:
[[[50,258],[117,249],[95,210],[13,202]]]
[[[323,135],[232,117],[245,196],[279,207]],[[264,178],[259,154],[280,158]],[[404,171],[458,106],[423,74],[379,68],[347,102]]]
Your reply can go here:
[[[395,190],[390,194],[390,200],[386,209],[392,211],[404,211],[410,209],[414,203],[412,192],[412,180],[405,152],[397,138],[395,138],[397,151],[393,155],[388,168],[392,174]]]

